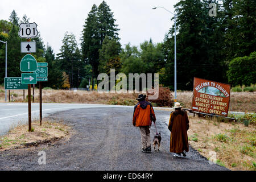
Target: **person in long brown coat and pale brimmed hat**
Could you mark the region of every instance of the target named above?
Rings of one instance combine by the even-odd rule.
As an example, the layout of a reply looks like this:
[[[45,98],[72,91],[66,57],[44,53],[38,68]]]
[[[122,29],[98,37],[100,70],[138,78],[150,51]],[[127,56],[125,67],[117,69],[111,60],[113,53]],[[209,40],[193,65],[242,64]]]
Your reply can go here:
[[[175,103],[175,111],[170,114],[168,129],[171,131],[170,152],[176,153],[174,156],[186,156],[188,152],[188,134],[189,128],[188,114],[181,110],[179,102]]]

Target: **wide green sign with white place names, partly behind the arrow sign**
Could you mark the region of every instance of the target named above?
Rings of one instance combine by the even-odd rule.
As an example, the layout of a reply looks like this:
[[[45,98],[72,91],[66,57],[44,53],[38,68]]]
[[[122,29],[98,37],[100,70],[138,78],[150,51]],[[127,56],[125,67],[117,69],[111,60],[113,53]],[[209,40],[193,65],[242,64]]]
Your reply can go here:
[[[5,78],[6,90],[24,90],[27,89],[27,85],[23,85],[21,77],[7,77]]]

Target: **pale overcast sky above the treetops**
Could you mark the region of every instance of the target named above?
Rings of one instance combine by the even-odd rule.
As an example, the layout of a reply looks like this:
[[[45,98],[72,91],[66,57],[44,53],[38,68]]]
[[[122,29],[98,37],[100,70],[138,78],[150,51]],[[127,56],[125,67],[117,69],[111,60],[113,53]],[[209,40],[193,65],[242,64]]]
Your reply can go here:
[[[26,14],[30,23],[38,24],[43,42],[59,52],[66,31],[73,32],[80,47],[80,38],[85,19],[93,4],[100,5],[102,0],[11,0],[1,1],[0,19],[9,20],[15,10],[19,18]],[[139,46],[150,38],[154,43],[163,42],[164,35],[174,24],[172,14],[164,9],[152,10],[162,6],[174,13],[174,5],[179,0],[105,0],[114,13],[118,24],[122,46],[131,43]]]

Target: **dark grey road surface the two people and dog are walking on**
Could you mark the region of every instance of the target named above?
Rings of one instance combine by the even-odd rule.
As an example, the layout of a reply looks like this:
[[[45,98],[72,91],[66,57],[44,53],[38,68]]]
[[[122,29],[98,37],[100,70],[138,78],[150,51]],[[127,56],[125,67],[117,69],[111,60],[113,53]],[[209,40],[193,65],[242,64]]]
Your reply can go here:
[[[131,107],[96,107],[50,114],[49,118],[63,118],[73,127],[72,137],[48,146],[0,152],[0,169],[227,170],[210,165],[191,147],[187,158],[172,156],[166,125],[170,111],[156,110],[156,124],[162,133],[160,152],[142,153],[139,130],[131,125],[132,114]],[[155,132],[154,128],[151,130]],[[41,150],[46,152],[46,165],[38,164]]]

